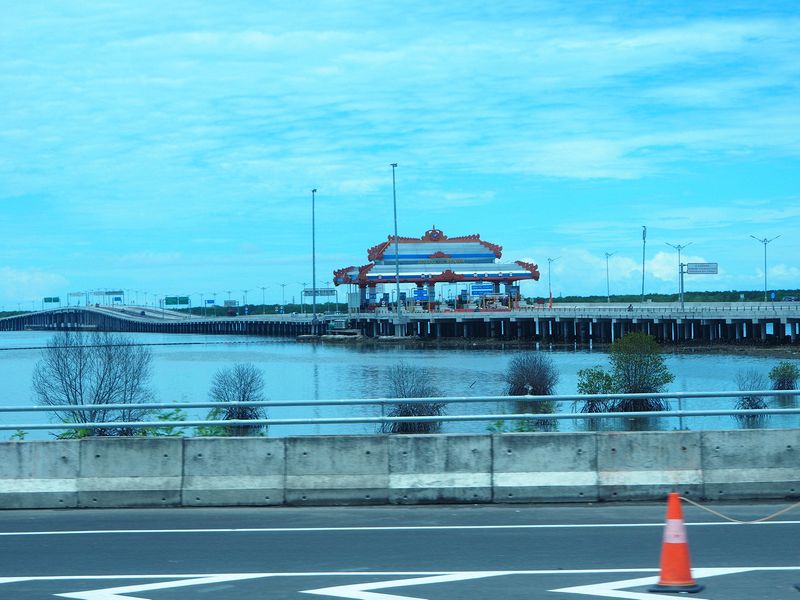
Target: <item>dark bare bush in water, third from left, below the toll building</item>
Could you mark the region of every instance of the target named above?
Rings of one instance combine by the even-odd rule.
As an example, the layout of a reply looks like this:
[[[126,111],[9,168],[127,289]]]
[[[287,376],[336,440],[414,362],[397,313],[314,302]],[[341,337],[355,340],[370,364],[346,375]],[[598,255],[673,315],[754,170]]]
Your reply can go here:
[[[393,398],[433,398],[441,395],[431,383],[425,369],[396,365],[387,377],[389,394]],[[438,417],[445,414],[443,402],[398,402],[387,414],[389,417]],[[392,421],[381,424],[382,433],[437,433],[440,421]]]

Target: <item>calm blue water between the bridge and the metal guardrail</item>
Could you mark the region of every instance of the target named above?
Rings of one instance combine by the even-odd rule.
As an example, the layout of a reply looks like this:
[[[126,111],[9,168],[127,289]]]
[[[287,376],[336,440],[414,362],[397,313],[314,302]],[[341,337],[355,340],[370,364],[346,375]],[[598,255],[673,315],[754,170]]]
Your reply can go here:
[[[34,404],[31,375],[42,346],[52,334],[45,332],[0,333],[0,405]],[[424,368],[445,396],[502,395],[504,374],[510,358],[519,350],[474,348],[403,348],[398,346],[333,346],[298,344],[283,338],[242,338],[240,336],[196,336],[132,334],[138,343],[152,344],[153,389],[157,401],[190,402],[208,399],[214,373],[237,362],[251,362],[262,369],[266,391],[272,400],[335,400],[385,396],[388,370],[398,363]],[[577,372],[594,365],[607,366],[607,354],[600,351],[553,351],[550,353],[560,374],[559,394],[574,394]],[[723,355],[666,355],[675,381],[670,391],[731,390],[736,388],[736,373],[755,369],[765,377],[778,362],[774,358]],[[773,401],[771,401],[773,402]],[[784,406],[785,404],[784,400]],[[791,401],[790,401],[791,402]],[[726,408],[727,399],[685,400],[685,408]],[[677,408],[677,403],[673,404]],[[450,413],[489,414],[504,412],[494,403],[451,406]],[[569,412],[571,406],[559,406]],[[191,418],[203,418],[206,409],[188,411]],[[276,407],[273,418],[313,416],[377,415],[372,407]],[[0,413],[3,423],[47,422],[45,414]],[[619,421],[617,421],[619,423]],[[800,417],[770,417],[770,427],[800,427]],[[584,422],[563,421],[562,431],[582,429]],[[619,427],[607,424],[605,427]],[[661,429],[734,429],[732,418],[694,418],[664,420]],[[445,431],[485,432],[487,423],[446,424]],[[624,429],[624,426],[621,428]],[[329,433],[372,433],[374,425],[275,426],[270,435]],[[0,432],[8,439],[10,432]],[[28,439],[47,437],[46,433]]]

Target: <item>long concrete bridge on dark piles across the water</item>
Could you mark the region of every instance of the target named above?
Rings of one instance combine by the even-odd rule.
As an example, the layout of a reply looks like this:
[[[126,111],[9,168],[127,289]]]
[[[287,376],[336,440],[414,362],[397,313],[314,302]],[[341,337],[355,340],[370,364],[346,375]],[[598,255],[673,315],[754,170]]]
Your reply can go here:
[[[796,344],[800,303],[571,304],[506,311],[387,309],[338,315],[200,317],[152,307],[68,307],[0,319],[0,331],[101,330],[204,335],[287,336],[322,334],[333,320],[367,337],[397,333],[423,339],[529,339],[555,343],[610,343],[641,331],[664,343]]]

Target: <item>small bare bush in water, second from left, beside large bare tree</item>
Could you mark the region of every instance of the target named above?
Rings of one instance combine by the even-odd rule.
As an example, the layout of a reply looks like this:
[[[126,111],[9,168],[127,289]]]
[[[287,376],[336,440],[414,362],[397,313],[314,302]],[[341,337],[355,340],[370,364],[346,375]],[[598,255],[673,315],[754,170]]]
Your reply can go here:
[[[264,375],[252,363],[237,363],[227,369],[220,369],[211,381],[209,396],[214,402],[263,402]],[[266,410],[260,406],[220,406],[208,413],[209,420],[265,419]],[[202,430],[203,434],[222,434],[230,436],[263,435],[266,425],[221,425],[219,428]]]

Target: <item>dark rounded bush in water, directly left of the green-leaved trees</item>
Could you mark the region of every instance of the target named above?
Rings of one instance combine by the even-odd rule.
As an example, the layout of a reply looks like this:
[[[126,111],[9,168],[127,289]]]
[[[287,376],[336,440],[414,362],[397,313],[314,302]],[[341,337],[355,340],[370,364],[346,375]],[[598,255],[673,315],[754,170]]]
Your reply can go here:
[[[526,352],[511,359],[506,371],[509,396],[550,396],[558,385],[558,371],[553,360],[543,352]],[[520,400],[515,403],[517,412],[546,414],[555,411],[551,401],[532,402]],[[554,431],[554,419],[518,421],[517,431]]]

